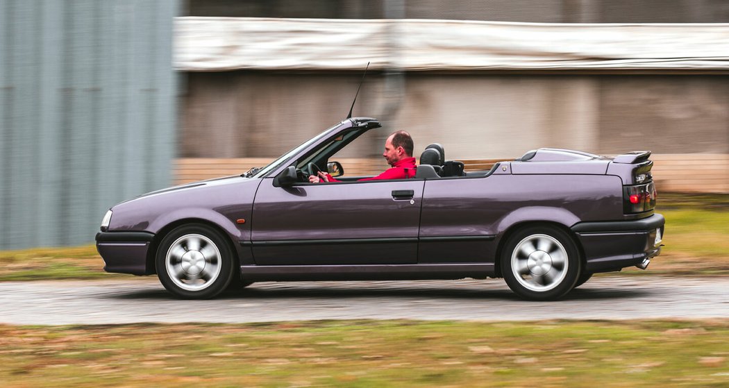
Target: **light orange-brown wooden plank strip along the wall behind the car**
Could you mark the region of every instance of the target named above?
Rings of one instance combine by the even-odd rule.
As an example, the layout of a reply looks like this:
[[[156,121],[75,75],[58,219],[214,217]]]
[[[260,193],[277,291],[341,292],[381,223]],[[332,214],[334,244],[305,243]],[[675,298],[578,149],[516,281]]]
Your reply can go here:
[[[226,175],[240,175],[252,167],[270,163],[272,158],[180,158],[175,162],[175,183],[182,185]],[[488,170],[504,159],[462,160],[466,171]],[[660,192],[729,193],[729,155],[652,155],[652,172]],[[382,159],[340,158],[347,175],[379,174],[387,168]]]

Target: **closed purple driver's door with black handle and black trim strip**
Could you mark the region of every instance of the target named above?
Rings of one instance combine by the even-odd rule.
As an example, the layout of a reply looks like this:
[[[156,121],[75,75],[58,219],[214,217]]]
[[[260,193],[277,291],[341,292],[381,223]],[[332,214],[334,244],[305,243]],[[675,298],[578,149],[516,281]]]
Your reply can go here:
[[[252,252],[257,265],[413,264],[424,180],[275,187],[256,193]]]

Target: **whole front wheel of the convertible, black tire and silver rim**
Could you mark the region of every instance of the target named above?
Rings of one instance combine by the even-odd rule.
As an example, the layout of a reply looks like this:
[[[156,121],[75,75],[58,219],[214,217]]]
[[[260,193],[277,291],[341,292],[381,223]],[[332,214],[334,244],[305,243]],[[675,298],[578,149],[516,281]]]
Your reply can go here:
[[[157,276],[179,298],[214,298],[233,279],[233,263],[230,244],[207,225],[179,226],[162,239],[157,249]]]

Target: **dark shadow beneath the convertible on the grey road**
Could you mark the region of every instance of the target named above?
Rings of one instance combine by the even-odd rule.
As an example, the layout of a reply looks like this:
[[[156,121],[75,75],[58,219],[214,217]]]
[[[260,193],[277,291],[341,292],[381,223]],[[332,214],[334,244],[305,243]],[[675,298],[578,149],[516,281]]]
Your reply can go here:
[[[560,301],[572,300],[623,300],[642,298],[650,295],[650,289],[622,288],[578,288],[569,292]],[[155,290],[139,290],[130,292],[117,292],[114,295],[105,295],[106,298],[133,299],[133,300],[179,300],[163,288]],[[316,284],[276,284],[260,283],[241,290],[226,290],[214,300],[261,300],[261,299],[311,299],[311,298],[430,298],[430,299],[461,299],[461,300],[510,300],[514,302],[534,303],[523,300],[514,292],[504,286],[503,289],[475,287],[338,287],[332,285]],[[547,302],[548,303],[548,302]]]

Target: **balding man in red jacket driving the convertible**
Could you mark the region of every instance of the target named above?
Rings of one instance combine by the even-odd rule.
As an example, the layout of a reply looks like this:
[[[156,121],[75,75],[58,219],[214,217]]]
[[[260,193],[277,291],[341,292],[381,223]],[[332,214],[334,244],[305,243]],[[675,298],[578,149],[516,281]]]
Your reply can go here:
[[[358,179],[358,181],[372,181],[379,179],[405,179],[412,178],[416,173],[415,158],[413,158],[413,138],[410,133],[397,131],[388,136],[385,141],[385,152],[383,158],[387,160],[390,168],[378,176]],[[319,171],[316,175],[309,176],[309,182],[341,182],[332,178],[330,174]]]

